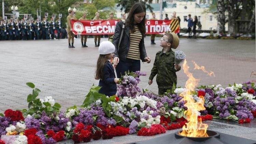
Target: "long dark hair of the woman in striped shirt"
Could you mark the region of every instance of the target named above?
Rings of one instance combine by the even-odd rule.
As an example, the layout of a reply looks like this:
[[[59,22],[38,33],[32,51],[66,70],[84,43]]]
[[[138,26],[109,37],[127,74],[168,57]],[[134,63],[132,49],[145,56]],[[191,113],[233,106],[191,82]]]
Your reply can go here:
[[[142,21],[138,24],[138,27],[140,29],[140,32],[142,35],[146,33],[146,28],[145,28],[145,16],[146,16],[146,7],[140,2],[134,3],[131,7],[131,10],[129,12],[128,18],[127,18],[127,26],[130,28],[131,32],[134,32],[134,14],[139,14],[145,12],[145,15],[142,19]]]

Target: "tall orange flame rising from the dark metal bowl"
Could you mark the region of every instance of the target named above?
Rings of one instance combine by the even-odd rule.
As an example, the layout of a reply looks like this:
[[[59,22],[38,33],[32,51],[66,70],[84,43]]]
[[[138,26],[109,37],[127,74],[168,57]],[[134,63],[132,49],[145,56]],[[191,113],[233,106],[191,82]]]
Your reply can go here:
[[[187,107],[187,110],[184,112],[186,114],[186,118],[188,120],[188,123],[186,123],[187,126],[183,126],[182,132],[179,132],[179,134],[183,136],[189,136],[189,137],[204,137],[208,136],[206,133],[208,125],[202,123],[202,119],[198,119],[197,111],[205,110],[204,104],[204,98],[203,96],[200,96],[200,100],[198,102],[195,102],[191,95],[191,91],[194,91],[194,88],[199,82],[199,79],[196,79],[192,73],[188,71],[189,67],[187,66],[187,61],[184,60],[183,66],[182,66],[184,73],[187,75],[188,80],[186,82],[186,91],[181,93],[180,95],[183,97],[182,100],[184,100],[185,106]]]

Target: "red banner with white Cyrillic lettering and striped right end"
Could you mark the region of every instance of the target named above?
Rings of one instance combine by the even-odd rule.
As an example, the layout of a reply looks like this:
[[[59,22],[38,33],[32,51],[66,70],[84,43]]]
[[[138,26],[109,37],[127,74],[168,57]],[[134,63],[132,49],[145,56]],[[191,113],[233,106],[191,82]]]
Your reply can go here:
[[[71,20],[71,28],[74,34],[114,34],[115,26],[119,20]],[[171,20],[147,20],[145,24],[146,34],[158,34],[164,32],[179,32],[179,25]],[[175,27],[175,29],[173,29]],[[177,31],[179,30],[179,31]]]

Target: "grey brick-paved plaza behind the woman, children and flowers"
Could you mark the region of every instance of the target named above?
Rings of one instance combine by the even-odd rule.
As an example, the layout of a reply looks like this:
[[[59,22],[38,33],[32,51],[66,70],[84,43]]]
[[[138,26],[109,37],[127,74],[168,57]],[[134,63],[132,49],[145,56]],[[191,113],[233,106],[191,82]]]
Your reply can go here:
[[[141,71],[148,75],[141,77],[140,88],[147,86],[155,54],[161,50],[159,42],[160,38],[156,38],[157,45],[150,45],[150,37],[145,39],[152,62],[141,63]],[[98,58],[94,39],[88,39],[87,48],[82,48],[80,39],[76,39],[73,49],[68,48],[67,39],[0,41],[0,45],[0,113],[6,109],[27,108],[27,95],[32,89],[26,82],[33,82],[42,91],[39,98],[53,96],[62,109],[81,105],[90,86],[98,84],[94,79]],[[250,78],[256,70],[255,41],[181,39],[177,50],[186,54],[190,71],[200,79],[199,85],[228,86],[256,80],[256,77]],[[213,71],[216,77],[194,70],[192,60]],[[187,77],[183,70],[177,72],[177,79],[177,85],[184,87]],[[157,93],[155,79],[147,89]]]

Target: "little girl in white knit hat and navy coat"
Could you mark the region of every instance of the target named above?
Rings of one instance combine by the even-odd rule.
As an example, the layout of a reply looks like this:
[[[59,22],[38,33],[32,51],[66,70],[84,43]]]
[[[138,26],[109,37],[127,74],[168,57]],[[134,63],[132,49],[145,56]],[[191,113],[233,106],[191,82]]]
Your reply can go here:
[[[109,61],[113,58],[114,52],[115,46],[110,41],[104,41],[99,46],[100,56],[97,61],[95,79],[100,80],[99,86],[102,88],[99,93],[106,96],[116,94],[116,83],[119,81],[119,78],[115,78],[113,65]]]

